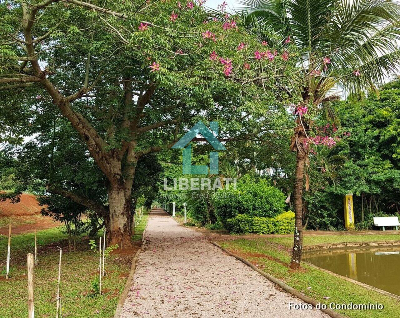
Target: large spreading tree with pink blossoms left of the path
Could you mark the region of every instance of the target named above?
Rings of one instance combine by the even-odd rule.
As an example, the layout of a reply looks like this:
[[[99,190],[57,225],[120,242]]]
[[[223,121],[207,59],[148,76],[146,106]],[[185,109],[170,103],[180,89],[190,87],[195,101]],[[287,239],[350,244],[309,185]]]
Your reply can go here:
[[[92,198],[50,177],[47,191],[102,211],[110,245],[132,246],[132,187],[140,158],[171,147],[200,119],[218,118],[225,141],[265,131],[249,118],[260,109],[265,114],[272,100],[268,81],[283,63],[266,68],[261,94],[246,80],[249,95],[266,104],[245,101],[242,85],[225,80],[230,62],[210,56],[214,48],[229,54],[238,62],[236,75],[246,78],[248,55],[236,47],[239,40],[260,44],[238,32],[234,20],[208,22],[200,5],[175,1],[36,0],[2,3],[0,10],[0,89],[7,102],[68,120],[70,134],[78,133],[100,170],[107,196]]]

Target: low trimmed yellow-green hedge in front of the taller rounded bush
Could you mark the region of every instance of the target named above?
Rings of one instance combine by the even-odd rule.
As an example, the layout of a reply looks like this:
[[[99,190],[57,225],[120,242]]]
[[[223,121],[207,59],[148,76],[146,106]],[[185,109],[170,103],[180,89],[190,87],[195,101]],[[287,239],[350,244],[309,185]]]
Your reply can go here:
[[[278,214],[274,218],[263,218],[238,214],[226,220],[226,229],[236,234],[292,234],[294,232],[294,212]]]

